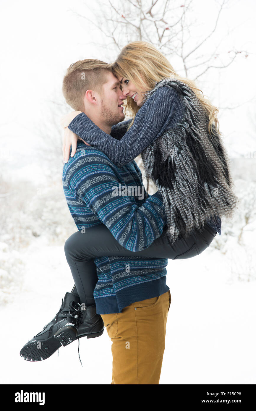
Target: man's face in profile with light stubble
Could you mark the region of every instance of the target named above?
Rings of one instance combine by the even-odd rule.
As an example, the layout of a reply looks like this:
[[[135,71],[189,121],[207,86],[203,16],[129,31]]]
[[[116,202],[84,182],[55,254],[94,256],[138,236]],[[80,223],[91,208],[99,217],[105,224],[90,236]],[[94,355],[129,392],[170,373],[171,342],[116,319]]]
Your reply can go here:
[[[126,97],[120,89],[120,81],[111,72],[107,74],[107,79],[101,90],[100,116],[105,124],[113,126],[125,119],[121,105]]]

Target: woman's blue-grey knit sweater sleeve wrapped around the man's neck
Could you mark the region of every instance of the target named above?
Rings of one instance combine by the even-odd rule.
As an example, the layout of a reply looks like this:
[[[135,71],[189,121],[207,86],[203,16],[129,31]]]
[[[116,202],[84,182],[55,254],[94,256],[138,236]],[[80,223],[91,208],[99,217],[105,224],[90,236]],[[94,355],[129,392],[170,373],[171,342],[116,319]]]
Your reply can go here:
[[[78,114],[69,129],[81,139],[104,152],[116,166],[122,167],[137,157],[148,145],[182,120],[185,107],[178,92],[170,87],[160,87],[136,113],[134,124],[125,132],[128,122],[112,129],[115,138],[102,131],[85,113]],[[121,133],[121,134],[120,134]],[[119,139],[120,138],[120,139]]]

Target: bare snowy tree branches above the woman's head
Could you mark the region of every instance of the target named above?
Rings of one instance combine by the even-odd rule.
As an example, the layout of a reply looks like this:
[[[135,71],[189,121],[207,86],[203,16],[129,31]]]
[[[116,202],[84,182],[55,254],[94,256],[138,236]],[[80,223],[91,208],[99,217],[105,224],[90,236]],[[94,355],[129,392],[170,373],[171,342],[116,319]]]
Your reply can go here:
[[[84,4],[93,11],[88,2]],[[216,16],[211,15],[209,30],[201,33],[199,39],[200,17],[194,12],[193,0],[184,0],[181,5],[174,0],[107,0],[101,2],[100,9],[93,11],[95,21],[75,13],[107,39],[97,47],[101,46],[104,53],[107,50],[108,57],[111,53],[115,58],[129,42],[143,40],[157,47],[168,59],[175,58],[186,77],[198,80],[209,69],[225,69],[238,55],[246,58],[249,54],[235,48],[220,53],[224,35],[212,49],[210,41],[218,33],[221,12],[227,7],[228,0],[221,0],[221,4],[216,5]],[[235,29],[227,30],[227,35]]]

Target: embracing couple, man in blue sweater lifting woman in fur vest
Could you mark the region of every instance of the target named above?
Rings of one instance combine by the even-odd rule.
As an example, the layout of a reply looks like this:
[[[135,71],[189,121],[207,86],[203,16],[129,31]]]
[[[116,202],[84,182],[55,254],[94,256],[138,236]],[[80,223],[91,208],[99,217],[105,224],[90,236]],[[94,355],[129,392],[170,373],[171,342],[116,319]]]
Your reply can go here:
[[[44,360],[106,327],[111,384],[159,384],[168,259],[201,254],[237,204],[218,109],[146,42],[128,44],[112,64],[71,64],[62,91],[74,109],[62,120],[62,180],[78,229],[65,242],[75,285],[20,354]]]

